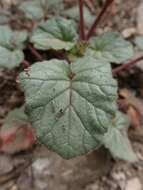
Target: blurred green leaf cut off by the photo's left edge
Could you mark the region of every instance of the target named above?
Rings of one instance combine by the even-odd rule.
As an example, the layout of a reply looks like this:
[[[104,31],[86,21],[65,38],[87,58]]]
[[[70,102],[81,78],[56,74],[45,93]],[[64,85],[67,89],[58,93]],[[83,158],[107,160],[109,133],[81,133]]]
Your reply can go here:
[[[12,31],[7,26],[0,26],[0,67],[12,69],[24,59],[27,32]]]

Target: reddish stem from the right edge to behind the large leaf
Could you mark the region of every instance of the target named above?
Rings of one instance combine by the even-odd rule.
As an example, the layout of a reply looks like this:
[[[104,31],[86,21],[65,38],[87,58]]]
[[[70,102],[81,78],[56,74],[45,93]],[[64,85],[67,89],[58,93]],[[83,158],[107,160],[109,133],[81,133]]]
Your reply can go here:
[[[116,76],[117,74],[119,74],[121,71],[123,70],[127,70],[129,67],[137,64],[139,61],[143,60],[143,55],[141,55],[140,57],[134,59],[134,60],[131,60],[129,61],[128,63],[126,64],[123,64],[115,69],[113,69],[113,76]]]

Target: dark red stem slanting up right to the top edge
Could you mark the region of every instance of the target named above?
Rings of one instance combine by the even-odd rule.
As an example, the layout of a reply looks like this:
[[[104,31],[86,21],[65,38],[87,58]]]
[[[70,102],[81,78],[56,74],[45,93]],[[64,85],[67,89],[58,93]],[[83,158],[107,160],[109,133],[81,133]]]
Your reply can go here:
[[[103,5],[102,10],[100,11],[99,15],[95,19],[95,22],[91,26],[91,28],[90,28],[87,36],[86,36],[86,40],[89,40],[89,38],[95,33],[97,25],[99,24],[99,22],[101,21],[104,13],[106,12],[107,8],[113,3],[113,1],[114,0],[106,0],[105,4]]]

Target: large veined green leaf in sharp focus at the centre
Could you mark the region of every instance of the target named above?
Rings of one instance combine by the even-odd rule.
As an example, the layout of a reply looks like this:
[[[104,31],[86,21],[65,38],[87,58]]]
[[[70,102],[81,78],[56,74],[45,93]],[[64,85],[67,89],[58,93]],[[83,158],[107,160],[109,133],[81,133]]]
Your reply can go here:
[[[72,64],[50,60],[23,72],[26,110],[39,141],[66,159],[99,146],[116,112],[117,84],[111,67],[92,57]]]

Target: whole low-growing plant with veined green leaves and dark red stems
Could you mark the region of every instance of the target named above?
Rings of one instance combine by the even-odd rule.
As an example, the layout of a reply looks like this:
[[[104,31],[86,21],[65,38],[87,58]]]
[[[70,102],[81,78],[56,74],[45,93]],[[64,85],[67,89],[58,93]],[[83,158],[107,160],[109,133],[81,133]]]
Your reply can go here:
[[[118,32],[96,34],[112,2],[105,1],[89,29],[83,0],[78,1],[76,12],[72,10],[76,14],[79,10],[79,19],[71,8],[70,14],[64,12],[61,0],[25,1],[18,9],[34,23],[32,31],[0,27],[0,66],[11,69],[23,64],[26,71],[19,81],[37,141],[65,159],[105,146],[114,157],[137,160],[127,136],[128,118],[118,110],[113,78],[137,62],[126,63],[133,56],[133,46]],[[25,50],[38,62],[25,60]]]

